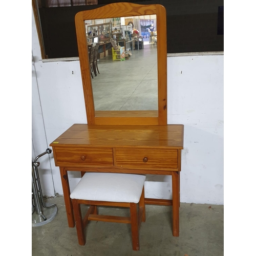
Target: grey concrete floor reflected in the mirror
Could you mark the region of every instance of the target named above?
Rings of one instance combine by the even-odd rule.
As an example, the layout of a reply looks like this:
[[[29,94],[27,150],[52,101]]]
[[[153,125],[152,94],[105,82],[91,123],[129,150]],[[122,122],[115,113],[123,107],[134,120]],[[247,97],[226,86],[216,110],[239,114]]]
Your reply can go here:
[[[157,110],[157,47],[144,45],[130,59],[99,59],[93,74],[95,110]]]

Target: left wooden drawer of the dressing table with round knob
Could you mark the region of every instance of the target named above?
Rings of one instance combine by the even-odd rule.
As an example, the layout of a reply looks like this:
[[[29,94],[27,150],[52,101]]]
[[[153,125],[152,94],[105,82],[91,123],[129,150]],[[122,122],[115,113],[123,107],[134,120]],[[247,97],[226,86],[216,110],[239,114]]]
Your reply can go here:
[[[113,166],[112,148],[55,147],[56,166]]]

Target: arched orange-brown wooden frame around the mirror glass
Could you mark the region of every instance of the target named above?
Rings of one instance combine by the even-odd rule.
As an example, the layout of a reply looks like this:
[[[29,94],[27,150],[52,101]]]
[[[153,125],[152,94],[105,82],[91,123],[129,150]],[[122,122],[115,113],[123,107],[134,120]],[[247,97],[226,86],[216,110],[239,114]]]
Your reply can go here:
[[[158,110],[156,111],[95,111],[84,20],[157,15]],[[162,5],[114,3],[75,15],[77,45],[81,68],[84,101],[88,124],[166,125],[167,124],[167,46],[166,11]]]

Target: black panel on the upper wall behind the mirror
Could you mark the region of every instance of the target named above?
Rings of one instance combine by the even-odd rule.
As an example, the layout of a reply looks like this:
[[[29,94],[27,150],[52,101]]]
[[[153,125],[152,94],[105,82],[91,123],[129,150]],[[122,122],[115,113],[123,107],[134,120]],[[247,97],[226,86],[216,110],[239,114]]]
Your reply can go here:
[[[224,35],[220,32],[223,31],[224,0],[98,0],[98,5],[93,6],[39,8],[48,58],[78,56],[75,14],[116,2],[160,4],[166,8],[167,53],[224,50]]]

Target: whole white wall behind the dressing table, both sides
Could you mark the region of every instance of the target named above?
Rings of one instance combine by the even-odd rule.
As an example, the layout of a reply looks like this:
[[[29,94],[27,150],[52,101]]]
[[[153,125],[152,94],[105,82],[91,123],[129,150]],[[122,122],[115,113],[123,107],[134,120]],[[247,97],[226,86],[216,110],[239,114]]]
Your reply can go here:
[[[32,11],[32,159],[74,123],[87,123],[79,61],[42,62]],[[168,124],[185,125],[181,202],[223,204],[223,56],[167,58]],[[50,159],[50,160],[49,160]],[[63,195],[53,154],[39,158],[46,196]],[[70,172],[71,190],[80,174]],[[172,177],[151,175],[145,196],[172,198]]]

